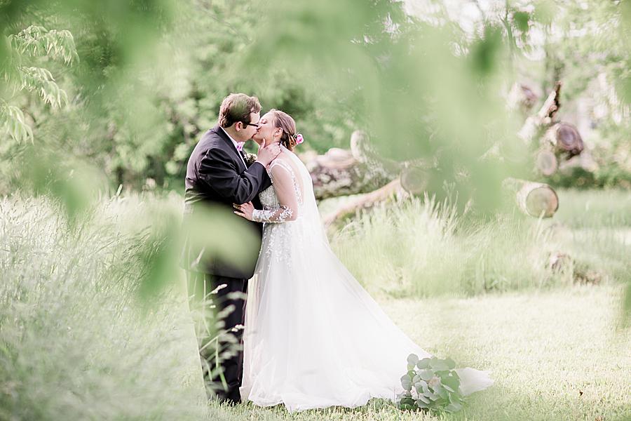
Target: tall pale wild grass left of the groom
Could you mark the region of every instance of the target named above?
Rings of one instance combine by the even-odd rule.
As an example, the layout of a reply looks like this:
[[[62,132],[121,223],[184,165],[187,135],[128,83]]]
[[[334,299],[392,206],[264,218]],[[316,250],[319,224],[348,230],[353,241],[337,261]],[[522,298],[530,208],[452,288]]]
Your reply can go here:
[[[139,298],[145,208],[69,223],[45,199],[0,199],[0,419],[208,415],[182,282]]]

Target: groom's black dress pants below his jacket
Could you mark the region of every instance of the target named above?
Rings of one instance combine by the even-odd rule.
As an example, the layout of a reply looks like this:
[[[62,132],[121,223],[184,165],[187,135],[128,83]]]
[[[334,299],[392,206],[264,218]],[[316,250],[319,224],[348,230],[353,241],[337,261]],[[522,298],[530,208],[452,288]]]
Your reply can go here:
[[[186,279],[208,397],[238,403],[243,328],[235,326],[245,323],[247,279],[198,272],[186,272]]]

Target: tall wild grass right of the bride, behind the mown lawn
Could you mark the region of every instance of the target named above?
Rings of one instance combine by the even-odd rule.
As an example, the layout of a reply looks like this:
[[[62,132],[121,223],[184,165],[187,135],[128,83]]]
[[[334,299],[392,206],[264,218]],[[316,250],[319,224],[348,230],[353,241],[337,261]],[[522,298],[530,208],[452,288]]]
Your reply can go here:
[[[369,290],[394,297],[631,279],[630,195],[559,196],[553,218],[516,211],[484,223],[457,215],[448,203],[413,199],[362,213],[332,235],[332,246]]]

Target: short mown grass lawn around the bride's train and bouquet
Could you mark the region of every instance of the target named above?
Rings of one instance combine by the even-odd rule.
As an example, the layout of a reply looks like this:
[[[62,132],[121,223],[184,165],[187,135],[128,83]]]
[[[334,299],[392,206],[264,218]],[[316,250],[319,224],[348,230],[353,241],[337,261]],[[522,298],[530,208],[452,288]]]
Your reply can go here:
[[[630,420],[631,335],[617,328],[620,288],[576,286],[477,298],[390,299],[386,312],[415,342],[461,365],[491,370],[458,420]],[[290,414],[212,408],[227,420],[418,420],[384,401]],[[440,419],[428,415],[428,420]]]

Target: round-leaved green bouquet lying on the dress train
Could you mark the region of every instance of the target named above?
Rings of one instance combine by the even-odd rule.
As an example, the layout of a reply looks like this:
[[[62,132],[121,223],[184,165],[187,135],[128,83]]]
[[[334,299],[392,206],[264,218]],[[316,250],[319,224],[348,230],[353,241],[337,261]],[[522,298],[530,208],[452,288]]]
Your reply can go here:
[[[398,396],[403,410],[428,410],[455,413],[462,409],[464,399],[460,377],[452,359],[424,358],[415,354],[407,357],[407,373],[401,377],[404,391]]]

